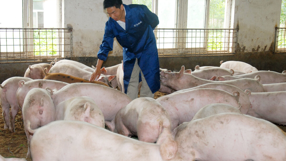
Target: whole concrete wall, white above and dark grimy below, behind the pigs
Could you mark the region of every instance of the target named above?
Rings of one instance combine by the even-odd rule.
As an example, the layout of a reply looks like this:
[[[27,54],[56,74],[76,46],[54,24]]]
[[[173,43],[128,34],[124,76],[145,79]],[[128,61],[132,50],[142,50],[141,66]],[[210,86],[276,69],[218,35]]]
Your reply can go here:
[[[131,0],[123,0],[130,4]],[[237,51],[230,56],[159,58],[160,67],[170,70],[194,69],[200,66],[219,66],[219,61],[244,61],[259,70],[286,70],[285,53],[273,53],[275,26],[279,26],[281,0],[233,0],[232,27],[239,26]],[[68,0],[64,4],[64,27],[73,27],[72,60],[88,66],[96,65],[96,54],[102,42],[108,15],[102,7],[102,0]],[[116,39],[115,39],[116,40]],[[105,67],[116,65],[122,60],[122,49],[114,41]],[[50,63],[50,62],[46,62]],[[33,63],[0,64],[0,82],[13,76],[23,76]]]

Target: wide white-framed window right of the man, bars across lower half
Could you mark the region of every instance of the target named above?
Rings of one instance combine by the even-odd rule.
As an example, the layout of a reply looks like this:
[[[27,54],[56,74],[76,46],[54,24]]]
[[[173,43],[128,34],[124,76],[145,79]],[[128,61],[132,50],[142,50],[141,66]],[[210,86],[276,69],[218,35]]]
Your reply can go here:
[[[133,0],[150,2],[160,22],[154,31],[159,56],[235,51],[237,29],[229,29],[231,0]]]

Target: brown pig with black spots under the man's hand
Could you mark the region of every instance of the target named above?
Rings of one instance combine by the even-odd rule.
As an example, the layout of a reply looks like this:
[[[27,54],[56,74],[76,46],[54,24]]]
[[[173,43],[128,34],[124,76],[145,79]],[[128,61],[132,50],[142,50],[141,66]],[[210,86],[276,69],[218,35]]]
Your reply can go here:
[[[47,73],[46,69],[44,69],[44,73],[45,73],[45,78],[44,79],[48,79],[48,80],[56,80],[56,81],[60,81],[60,82],[65,82],[65,83],[95,83],[95,84],[101,84],[103,86],[107,86],[107,87],[111,87],[112,86],[108,86],[106,83],[103,82],[99,82],[99,81],[92,81],[90,82],[87,79],[82,79],[79,77],[74,77],[72,75],[67,75],[64,73]]]

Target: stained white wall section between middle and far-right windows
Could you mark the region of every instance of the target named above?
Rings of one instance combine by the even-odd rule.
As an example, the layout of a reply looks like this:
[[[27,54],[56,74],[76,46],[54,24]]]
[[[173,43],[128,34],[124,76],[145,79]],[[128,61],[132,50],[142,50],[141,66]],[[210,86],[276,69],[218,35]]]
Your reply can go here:
[[[235,0],[234,27],[244,52],[268,51],[280,24],[281,0]],[[260,48],[259,48],[260,47]]]

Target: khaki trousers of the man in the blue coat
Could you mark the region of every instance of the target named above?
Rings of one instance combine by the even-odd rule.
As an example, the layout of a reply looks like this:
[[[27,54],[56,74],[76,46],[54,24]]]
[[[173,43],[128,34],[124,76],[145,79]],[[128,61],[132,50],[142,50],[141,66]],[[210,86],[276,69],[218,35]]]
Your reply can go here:
[[[138,84],[139,84],[139,72],[141,72],[141,79],[142,79],[142,85],[141,85],[141,89],[140,89],[140,97],[151,97],[154,98],[154,94],[152,94],[152,91],[150,90],[145,77],[138,65],[138,60],[136,58],[132,73],[131,73],[131,77],[130,77],[130,81],[128,84],[128,88],[127,88],[127,95],[132,99],[136,99],[138,98]]]

